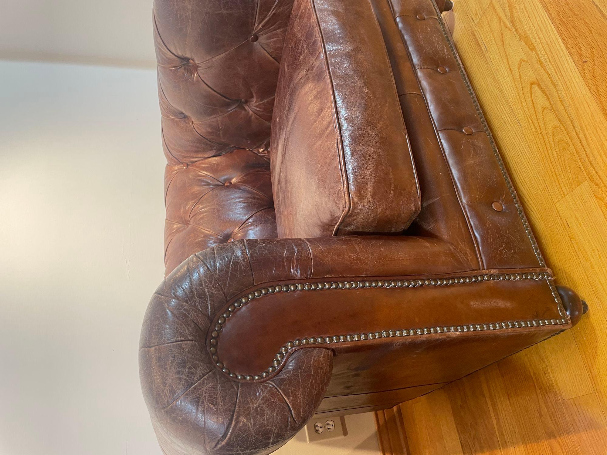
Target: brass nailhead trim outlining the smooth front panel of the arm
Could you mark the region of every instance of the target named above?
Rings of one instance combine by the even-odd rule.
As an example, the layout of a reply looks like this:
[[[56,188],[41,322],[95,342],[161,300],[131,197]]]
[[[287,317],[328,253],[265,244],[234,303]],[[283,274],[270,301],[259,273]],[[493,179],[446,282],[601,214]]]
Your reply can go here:
[[[483,324],[470,324],[470,325],[458,325],[458,326],[441,326],[441,327],[424,327],[424,328],[410,328],[410,329],[395,329],[395,330],[384,330],[379,332],[368,332],[368,333],[357,333],[347,335],[333,335],[333,336],[317,336],[317,337],[306,337],[302,339],[291,340],[280,348],[280,351],[274,357],[272,365],[265,371],[260,372],[256,375],[242,375],[236,374],[230,371],[223,365],[219,357],[217,357],[217,345],[219,344],[219,335],[225,325],[226,321],[232,314],[238,311],[242,306],[248,305],[249,302],[256,298],[264,297],[269,294],[276,294],[277,292],[302,292],[302,291],[322,291],[326,289],[359,289],[359,288],[417,288],[423,286],[453,286],[465,283],[480,283],[482,281],[503,281],[503,280],[546,280],[551,283],[552,276],[548,272],[535,272],[535,273],[512,273],[512,274],[481,274],[472,275],[467,277],[453,277],[453,278],[432,278],[426,280],[373,280],[373,281],[326,281],[317,283],[297,283],[297,284],[285,284],[268,286],[266,288],[257,289],[254,292],[240,297],[236,302],[232,303],[228,309],[219,317],[217,324],[215,324],[214,330],[211,332],[211,339],[209,340],[209,351],[211,357],[222,371],[232,379],[241,381],[257,381],[266,379],[271,376],[280,368],[280,364],[285,360],[285,356],[293,348],[301,345],[331,345],[333,343],[342,342],[358,342],[364,340],[373,340],[378,338],[388,337],[408,337],[416,335],[428,335],[436,333],[449,333],[449,332],[472,332],[472,331],[487,331],[487,330],[500,330],[508,328],[531,328],[544,325],[564,325],[568,323],[568,318],[562,319],[532,319],[532,320],[521,320],[521,321],[507,321],[507,322],[492,322]],[[553,290],[554,289],[554,290]],[[560,302],[558,292],[554,285],[551,287],[552,297],[555,301]]]

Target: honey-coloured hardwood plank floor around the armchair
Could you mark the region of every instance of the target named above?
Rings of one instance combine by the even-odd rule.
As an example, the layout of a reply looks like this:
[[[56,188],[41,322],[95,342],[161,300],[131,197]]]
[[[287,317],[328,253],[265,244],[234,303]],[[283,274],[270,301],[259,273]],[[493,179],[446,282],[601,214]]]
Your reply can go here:
[[[590,311],[571,331],[378,413],[380,427],[392,419],[396,439],[406,434],[382,448],[605,454],[607,0],[455,0],[447,14],[548,265]]]

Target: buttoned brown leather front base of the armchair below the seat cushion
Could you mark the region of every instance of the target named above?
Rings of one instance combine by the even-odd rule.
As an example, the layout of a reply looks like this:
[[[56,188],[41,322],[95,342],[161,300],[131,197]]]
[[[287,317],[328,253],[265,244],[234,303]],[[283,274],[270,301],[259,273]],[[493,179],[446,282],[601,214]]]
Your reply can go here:
[[[387,0],[373,0],[388,47],[402,55],[392,59],[396,84],[415,123],[422,211],[412,233],[451,241],[481,268],[540,266],[432,0],[388,1],[392,17]]]

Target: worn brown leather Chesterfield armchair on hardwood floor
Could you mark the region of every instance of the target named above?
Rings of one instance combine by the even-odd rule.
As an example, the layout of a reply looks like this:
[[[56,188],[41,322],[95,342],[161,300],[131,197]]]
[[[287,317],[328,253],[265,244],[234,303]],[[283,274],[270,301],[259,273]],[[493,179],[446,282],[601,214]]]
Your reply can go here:
[[[391,407],[578,322],[450,6],[155,0],[167,276],[140,376],[165,454],[271,453],[314,414]]]

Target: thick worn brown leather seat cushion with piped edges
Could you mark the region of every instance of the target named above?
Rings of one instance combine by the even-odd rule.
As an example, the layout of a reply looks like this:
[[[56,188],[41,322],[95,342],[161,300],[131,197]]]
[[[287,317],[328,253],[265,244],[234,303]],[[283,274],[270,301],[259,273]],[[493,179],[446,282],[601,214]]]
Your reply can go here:
[[[403,231],[419,186],[368,0],[296,0],[270,141],[279,237]]]

